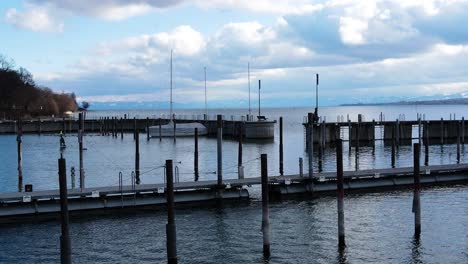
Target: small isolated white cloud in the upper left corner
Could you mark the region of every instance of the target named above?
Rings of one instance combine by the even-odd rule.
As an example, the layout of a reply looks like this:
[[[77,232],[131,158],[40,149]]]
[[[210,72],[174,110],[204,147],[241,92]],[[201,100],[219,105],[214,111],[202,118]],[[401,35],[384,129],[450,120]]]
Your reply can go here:
[[[62,32],[64,24],[55,21],[49,10],[40,6],[29,5],[25,11],[10,8],[5,14],[6,22],[24,29],[42,32]]]

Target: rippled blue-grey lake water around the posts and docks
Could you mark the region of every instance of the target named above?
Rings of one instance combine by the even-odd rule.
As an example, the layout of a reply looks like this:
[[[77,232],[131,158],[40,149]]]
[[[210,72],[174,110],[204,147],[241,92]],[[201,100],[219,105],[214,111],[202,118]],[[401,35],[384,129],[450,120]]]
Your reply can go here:
[[[304,152],[303,117],[312,109],[263,109],[272,119],[284,118],[285,174],[298,173],[298,158]],[[245,115],[245,109],[210,109],[210,114]],[[415,120],[418,113],[426,119],[457,118],[468,113],[468,106],[359,106],[324,107],[319,109],[328,121],[347,115],[357,120],[386,120],[396,118]],[[100,111],[88,116],[123,115],[140,118],[158,117],[164,111]],[[180,110],[178,115],[201,115],[204,110]],[[404,114],[404,116],[402,115]],[[277,128],[276,128],[277,129]],[[377,131],[379,133],[379,131]],[[178,138],[146,141],[140,135],[142,183],[163,181],[160,168],[166,159],[174,159],[181,181],[193,180],[193,139]],[[271,142],[244,144],[246,177],[259,176],[261,153],[268,154],[269,175],[278,175],[278,133]],[[70,167],[78,167],[77,137],[66,136],[68,177]],[[223,143],[224,178],[237,177],[237,142]],[[86,186],[117,185],[122,172],[124,182],[130,183],[134,170],[134,141],[130,134],[124,139],[87,134],[84,139]],[[23,136],[24,183],[35,190],[58,188],[57,135]],[[16,137],[0,136],[0,192],[17,188]],[[344,145],[345,170],[390,167],[390,147],[382,141],[372,147],[361,147],[356,163],[354,148]],[[200,180],[215,179],[216,139],[199,140]],[[455,145],[430,147],[431,165],[456,163]],[[465,147],[461,162],[468,162]],[[335,149],[327,147],[323,171],[335,168]],[[396,167],[412,166],[411,145],[401,146]],[[314,162],[315,171],[318,170]],[[77,170],[78,182],[78,170]],[[70,178],[69,178],[70,179]],[[68,181],[70,184],[70,180]],[[230,204],[224,208],[185,208],[176,214],[180,263],[263,263],[261,254],[261,205],[259,189],[249,189],[250,202]],[[415,243],[412,192],[383,192],[350,194],[345,198],[347,249],[337,252],[336,199],[321,197],[286,199],[271,205],[272,258],[270,263],[467,263],[468,262],[468,189],[466,186],[425,189],[422,193],[423,234]],[[139,211],[120,215],[86,217],[71,222],[74,263],[160,263],[165,261],[166,214],[163,210]],[[0,263],[53,263],[59,260],[58,222],[23,223],[0,226]]]

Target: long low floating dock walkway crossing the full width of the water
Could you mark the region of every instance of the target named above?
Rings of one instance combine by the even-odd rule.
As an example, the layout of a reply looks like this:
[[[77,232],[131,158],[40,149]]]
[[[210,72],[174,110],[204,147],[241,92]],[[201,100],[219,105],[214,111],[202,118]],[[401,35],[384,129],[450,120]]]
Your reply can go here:
[[[468,164],[434,165],[421,167],[423,184],[468,183]],[[398,188],[413,184],[413,168],[389,168],[344,172],[345,189],[375,190]],[[314,174],[313,181],[307,175],[269,177],[271,195],[312,193],[320,195],[336,190],[336,172]],[[313,183],[313,190],[310,183]],[[225,179],[220,189],[216,180],[174,183],[175,202],[206,202],[220,198],[248,199],[247,186],[260,185],[260,177]],[[106,208],[128,208],[163,205],[166,203],[164,183],[133,186],[108,186],[69,189],[70,211],[104,210]],[[222,190],[222,195],[219,195]],[[38,216],[60,212],[59,190],[16,192],[0,194],[1,219],[21,216]]]

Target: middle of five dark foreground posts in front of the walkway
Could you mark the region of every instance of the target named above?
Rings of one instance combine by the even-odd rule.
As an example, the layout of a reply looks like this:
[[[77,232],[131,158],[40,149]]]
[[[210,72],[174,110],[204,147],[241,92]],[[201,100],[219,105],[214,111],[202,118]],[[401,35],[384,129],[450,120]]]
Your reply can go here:
[[[270,257],[270,212],[268,209],[268,164],[267,154],[260,155],[262,176],[262,233],[263,256]]]

